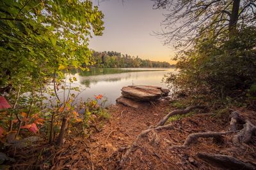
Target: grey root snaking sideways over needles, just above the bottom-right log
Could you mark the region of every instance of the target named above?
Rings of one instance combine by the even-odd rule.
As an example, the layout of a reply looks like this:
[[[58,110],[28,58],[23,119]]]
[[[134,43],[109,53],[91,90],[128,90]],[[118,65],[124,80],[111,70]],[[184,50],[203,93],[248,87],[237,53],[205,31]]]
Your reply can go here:
[[[228,134],[233,131],[225,131],[225,132],[199,132],[199,133],[193,133],[189,134],[186,141],[184,141],[183,145],[175,145],[172,146],[172,148],[187,148],[192,143],[196,143],[198,141],[198,138],[214,138],[217,141],[221,141],[222,135]]]

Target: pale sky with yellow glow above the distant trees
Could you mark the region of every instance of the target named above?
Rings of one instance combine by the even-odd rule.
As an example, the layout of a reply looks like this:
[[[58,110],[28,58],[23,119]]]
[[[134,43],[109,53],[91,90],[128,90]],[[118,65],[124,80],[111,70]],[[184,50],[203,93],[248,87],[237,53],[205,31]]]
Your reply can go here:
[[[97,0],[93,4],[98,5]],[[107,0],[99,3],[104,13],[105,30],[94,36],[89,48],[95,51],[116,51],[141,59],[173,63],[174,50],[164,46],[163,40],[154,36],[161,31],[164,10],[153,10],[150,0]]]

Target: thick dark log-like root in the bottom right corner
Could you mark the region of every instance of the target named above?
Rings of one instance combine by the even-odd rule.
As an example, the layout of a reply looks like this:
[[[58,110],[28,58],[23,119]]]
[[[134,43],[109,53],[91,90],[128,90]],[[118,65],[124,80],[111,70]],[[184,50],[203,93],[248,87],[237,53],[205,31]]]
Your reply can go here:
[[[225,169],[256,169],[252,164],[242,162],[234,157],[220,154],[197,153],[199,159],[211,164],[212,166]]]

